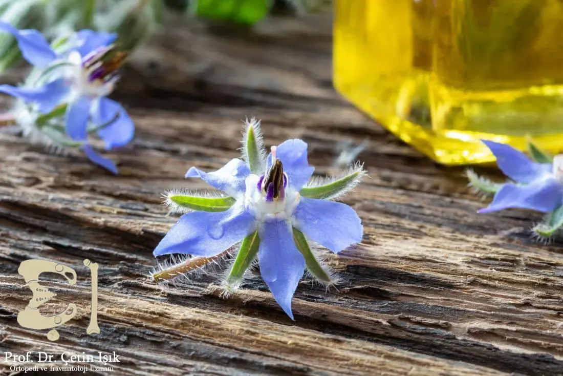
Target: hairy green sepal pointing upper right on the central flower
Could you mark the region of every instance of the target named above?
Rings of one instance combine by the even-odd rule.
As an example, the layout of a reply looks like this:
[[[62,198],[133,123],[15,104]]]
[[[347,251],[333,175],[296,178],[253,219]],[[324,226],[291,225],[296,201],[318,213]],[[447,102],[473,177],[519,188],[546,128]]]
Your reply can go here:
[[[344,196],[360,184],[367,175],[360,163],[351,166],[340,176],[333,178],[313,178],[299,192],[303,197],[319,198],[321,200],[336,199]]]

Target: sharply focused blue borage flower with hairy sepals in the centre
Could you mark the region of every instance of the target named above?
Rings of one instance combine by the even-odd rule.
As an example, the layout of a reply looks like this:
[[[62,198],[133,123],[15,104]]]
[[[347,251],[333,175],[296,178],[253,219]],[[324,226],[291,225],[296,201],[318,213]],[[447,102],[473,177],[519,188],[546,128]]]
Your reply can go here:
[[[311,179],[314,167],[307,161],[307,144],[287,140],[272,147],[266,157],[260,123],[255,120],[245,123],[243,160],[231,160],[213,172],[196,167],[187,171],[186,178],[203,179],[219,194],[166,194],[172,209],[190,212],[173,225],[154,255],[195,257],[168,265],[154,278],[167,280],[191,271],[242,241],[224,281],[225,290],[237,289],[257,258],[262,278],[293,319],[291,300],[305,267],[321,283],[333,282],[308,240],[334,253],[361,241],[363,227],[354,209],[328,200],[354,188],[365,171],[356,165],[338,178]]]

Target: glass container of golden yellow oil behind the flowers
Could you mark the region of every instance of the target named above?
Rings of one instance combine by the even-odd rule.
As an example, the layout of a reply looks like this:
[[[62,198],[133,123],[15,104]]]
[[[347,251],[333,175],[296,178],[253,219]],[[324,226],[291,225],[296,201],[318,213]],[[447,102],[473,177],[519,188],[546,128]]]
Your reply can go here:
[[[448,165],[563,151],[563,0],[336,0],[334,85]]]

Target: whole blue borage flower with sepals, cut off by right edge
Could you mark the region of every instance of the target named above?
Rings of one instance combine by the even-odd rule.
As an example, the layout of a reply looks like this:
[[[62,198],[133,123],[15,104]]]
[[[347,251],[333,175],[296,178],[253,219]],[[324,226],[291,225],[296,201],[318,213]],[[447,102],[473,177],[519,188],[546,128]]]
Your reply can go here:
[[[493,183],[468,171],[470,184],[481,193],[494,194],[488,207],[478,213],[517,208],[547,213],[545,223],[534,227],[537,236],[549,238],[563,225],[563,155],[555,158],[529,140],[534,160],[506,144],[482,141],[497,158],[499,169],[512,181]]]

